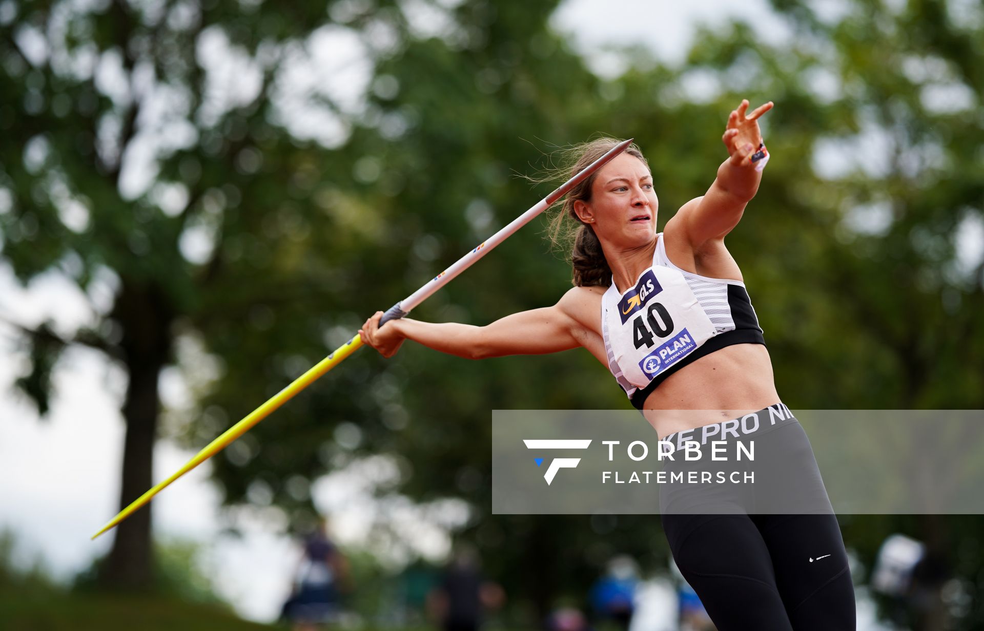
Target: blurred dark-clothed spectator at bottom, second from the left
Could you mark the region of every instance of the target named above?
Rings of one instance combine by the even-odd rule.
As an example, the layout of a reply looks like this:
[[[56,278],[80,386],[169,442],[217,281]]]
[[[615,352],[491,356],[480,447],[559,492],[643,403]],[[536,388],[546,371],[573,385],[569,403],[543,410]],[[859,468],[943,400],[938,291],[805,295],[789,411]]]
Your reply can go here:
[[[505,600],[499,585],[483,580],[475,549],[460,545],[431,592],[428,609],[443,631],[476,631],[484,610],[497,609]]]

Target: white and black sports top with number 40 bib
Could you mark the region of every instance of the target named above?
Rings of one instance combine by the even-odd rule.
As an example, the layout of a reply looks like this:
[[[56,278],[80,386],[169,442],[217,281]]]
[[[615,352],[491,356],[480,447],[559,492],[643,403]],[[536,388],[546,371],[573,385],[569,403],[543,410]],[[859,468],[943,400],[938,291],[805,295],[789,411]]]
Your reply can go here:
[[[608,369],[632,404],[672,373],[732,344],[765,344],[759,318],[739,280],[708,278],[674,265],[656,235],[652,266],[624,294],[615,278],[601,297]]]

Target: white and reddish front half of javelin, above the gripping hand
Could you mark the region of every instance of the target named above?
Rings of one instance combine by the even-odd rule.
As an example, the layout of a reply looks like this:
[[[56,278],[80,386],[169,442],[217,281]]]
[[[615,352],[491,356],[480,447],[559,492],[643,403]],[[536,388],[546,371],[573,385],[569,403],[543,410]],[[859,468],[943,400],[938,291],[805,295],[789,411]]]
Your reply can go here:
[[[478,246],[459,258],[453,265],[442,271],[433,279],[429,280],[420,289],[413,292],[399,303],[387,310],[386,314],[380,318],[379,325],[382,326],[391,319],[398,319],[404,315],[409,314],[413,309],[424,302],[437,290],[444,287],[447,283],[451,282],[453,278],[458,276],[462,271],[471,266],[479,258],[484,257],[493,248],[498,246],[500,243],[505,241],[514,232],[522,228],[524,225],[529,223],[533,217],[540,214],[544,210],[550,207],[550,205],[562,197],[564,197],[571,189],[581,184],[584,179],[591,176],[592,173],[600,169],[602,166],[607,164],[612,158],[624,151],[630,144],[632,144],[634,139],[629,139],[628,141],[623,141],[616,144],[611,149],[609,149],[604,155],[594,160],[590,164],[584,167],[580,173],[575,175],[573,178],[558,187],[553,193],[538,201],[531,208],[523,212],[519,217],[513,219],[509,224],[503,227],[499,232],[495,233]]]

